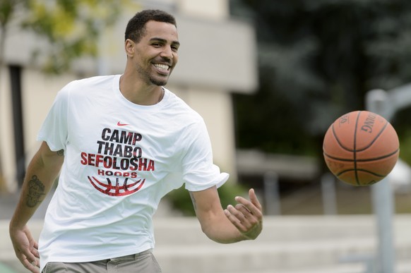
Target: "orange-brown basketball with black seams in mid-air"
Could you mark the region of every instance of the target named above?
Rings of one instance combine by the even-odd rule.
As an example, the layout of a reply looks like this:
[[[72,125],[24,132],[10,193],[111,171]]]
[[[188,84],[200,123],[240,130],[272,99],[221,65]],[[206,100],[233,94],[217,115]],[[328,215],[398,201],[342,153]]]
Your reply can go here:
[[[342,182],[369,186],[386,177],[400,153],[391,123],[370,111],[352,111],[328,128],[323,156],[328,169]]]

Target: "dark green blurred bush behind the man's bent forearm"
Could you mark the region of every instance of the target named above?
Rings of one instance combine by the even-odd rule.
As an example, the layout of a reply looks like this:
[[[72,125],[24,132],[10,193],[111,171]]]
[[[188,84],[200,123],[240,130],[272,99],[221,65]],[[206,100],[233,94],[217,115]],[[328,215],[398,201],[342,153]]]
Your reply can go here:
[[[245,193],[246,189],[237,183],[227,182],[218,188],[218,195],[220,195],[220,202],[223,208],[230,204],[234,205],[234,197],[243,196]],[[189,191],[184,186],[177,190],[172,190],[172,192],[166,195],[166,198],[172,203],[174,210],[182,212],[185,216],[196,215]]]

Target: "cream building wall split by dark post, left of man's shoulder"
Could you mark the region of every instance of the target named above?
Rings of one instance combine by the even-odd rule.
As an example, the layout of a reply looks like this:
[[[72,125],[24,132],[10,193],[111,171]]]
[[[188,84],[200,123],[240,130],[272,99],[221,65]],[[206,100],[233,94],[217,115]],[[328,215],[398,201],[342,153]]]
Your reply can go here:
[[[8,70],[3,69],[0,81],[0,124],[6,128],[0,132],[1,161],[8,190],[17,189],[16,157],[14,153],[13,116],[11,109],[10,80]],[[56,93],[74,80],[75,75],[65,74],[58,77],[45,75],[35,68],[24,68],[22,72],[22,107],[24,126],[24,145],[26,164],[40,147],[36,141],[37,131],[42,125]]]

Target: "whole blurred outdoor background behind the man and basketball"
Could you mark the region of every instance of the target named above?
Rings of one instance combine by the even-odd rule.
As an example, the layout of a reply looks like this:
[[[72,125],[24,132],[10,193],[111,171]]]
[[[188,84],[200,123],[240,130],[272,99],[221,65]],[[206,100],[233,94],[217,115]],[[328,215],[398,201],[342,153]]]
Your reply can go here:
[[[177,18],[167,88],[205,119],[215,164],[230,173],[222,204],[252,187],[266,214],[256,241],[217,245],[174,190],[155,216],[163,272],[411,272],[411,1],[0,0],[1,273],[24,272],[8,219],[56,92],[123,73],[126,23],[145,8]],[[328,126],[368,109],[376,89],[400,138],[383,190],[338,181],[322,154]],[[30,222],[36,236],[46,207]]]

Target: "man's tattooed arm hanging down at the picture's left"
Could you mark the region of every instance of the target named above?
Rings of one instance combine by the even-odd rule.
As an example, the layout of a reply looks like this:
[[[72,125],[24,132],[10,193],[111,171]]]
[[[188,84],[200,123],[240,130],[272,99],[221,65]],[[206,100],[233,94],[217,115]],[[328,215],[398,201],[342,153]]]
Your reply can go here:
[[[20,200],[10,222],[9,231],[18,260],[31,272],[38,272],[37,243],[26,224],[52,188],[64,161],[63,150],[53,152],[46,142],[28,165]]]

